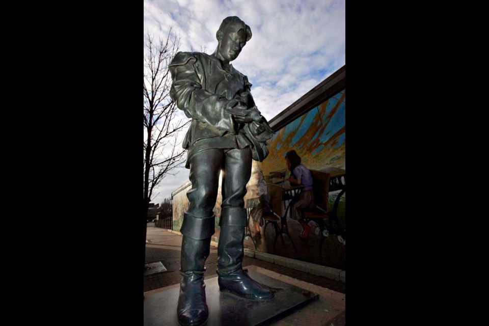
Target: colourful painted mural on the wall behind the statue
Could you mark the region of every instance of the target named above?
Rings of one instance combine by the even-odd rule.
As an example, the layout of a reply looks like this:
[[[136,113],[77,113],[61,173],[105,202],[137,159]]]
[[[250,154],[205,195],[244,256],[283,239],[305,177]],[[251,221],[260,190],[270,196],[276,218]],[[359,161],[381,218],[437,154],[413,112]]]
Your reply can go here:
[[[301,156],[302,164],[310,170],[331,170],[332,168],[346,170],[345,162],[345,90],[335,94],[306,114],[298,117],[280,130],[268,141],[269,155],[259,163],[253,161],[252,175],[247,184],[247,194],[244,197],[249,212],[249,228],[244,247],[330,266],[346,269],[345,265],[345,239],[337,234],[330,234],[314,222],[309,222],[311,233],[307,241],[301,237],[301,225],[286,216],[286,224],[290,238],[286,235],[277,236],[273,226],[262,218],[263,193],[269,198],[265,183],[271,183],[274,172],[285,172],[285,153],[295,150]],[[345,172],[345,171],[343,171]],[[275,173],[277,175],[277,173]],[[345,183],[345,176],[342,177]],[[188,207],[187,191],[191,189],[190,182],[182,185],[173,194],[173,229],[179,231],[183,212]],[[329,193],[329,207],[333,207],[340,191]],[[214,208],[216,214],[215,230],[212,236],[219,241],[219,217],[221,215],[221,179],[218,199]],[[337,209],[338,221],[341,229],[345,231],[345,194],[342,194]],[[265,200],[266,201],[266,200]],[[287,203],[286,203],[287,204]],[[278,227],[281,227],[279,222]]]

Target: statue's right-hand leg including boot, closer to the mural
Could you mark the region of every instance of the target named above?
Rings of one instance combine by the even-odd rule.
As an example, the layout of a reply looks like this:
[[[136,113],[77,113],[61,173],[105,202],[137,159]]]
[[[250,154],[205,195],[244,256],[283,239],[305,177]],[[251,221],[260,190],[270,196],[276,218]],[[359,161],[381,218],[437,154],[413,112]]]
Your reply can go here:
[[[244,273],[244,227],[247,223],[243,197],[251,176],[252,154],[249,148],[226,152],[223,203],[218,245],[218,283],[221,291],[250,300],[267,300],[274,293]]]

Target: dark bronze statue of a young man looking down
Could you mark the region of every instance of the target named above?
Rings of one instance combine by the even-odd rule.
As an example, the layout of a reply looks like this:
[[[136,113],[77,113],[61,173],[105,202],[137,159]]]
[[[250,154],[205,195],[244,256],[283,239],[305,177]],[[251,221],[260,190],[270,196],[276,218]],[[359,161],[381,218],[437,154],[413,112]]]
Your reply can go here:
[[[208,317],[203,274],[214,234],[213,208],[221,170],[219,287],[250,300],[274,296],[241,267],[247,224],[243,197],[252,158],[261,161],[266,157],[266,140],[273,134],[255,106],[247,76],[229,63],[251,36],[250,26],[238,17],[227,17],[216,33],[218,46],[212,55],[178,52],[169,66],[173,78],[170,96],[192,118],[183,141],[192,189],[187,193],[189,206],[180,229],[182,281],[177,308],[178,321],[185,326],[200,325]]]

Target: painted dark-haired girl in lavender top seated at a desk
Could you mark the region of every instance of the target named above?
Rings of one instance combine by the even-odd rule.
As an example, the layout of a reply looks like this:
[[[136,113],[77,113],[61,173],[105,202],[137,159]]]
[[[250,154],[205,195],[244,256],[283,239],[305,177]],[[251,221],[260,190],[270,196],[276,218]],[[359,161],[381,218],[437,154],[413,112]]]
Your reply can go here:
[[[298,198],[294,199],[290,206],[290,218],[301,224],[303,230],[300,237],[306,240],[309,237],[311,227],[304,221],[302,209],[316,206],[314,192],[312,190],[311,171],[301,164],[301,157],[294,150],[288,151],[285,154],[285,162],[287,169],[290,170],[290,184],[302,184],[304,186]]]

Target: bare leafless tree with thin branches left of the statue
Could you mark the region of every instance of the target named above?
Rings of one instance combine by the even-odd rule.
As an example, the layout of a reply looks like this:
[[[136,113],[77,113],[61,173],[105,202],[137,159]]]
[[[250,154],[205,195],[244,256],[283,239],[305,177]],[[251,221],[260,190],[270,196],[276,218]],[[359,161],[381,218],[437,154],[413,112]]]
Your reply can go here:
[[[184,164],[185,151],[177,143],[177,134],[190,121],[175,121],[178,112],[170,99],[172,79],[168,70],[180,46],[180,38],[170,29],[166,39],[147,33],[144,53],[144,243],[146,251],[146,220],[154,188],[175,168]],[[144,264],[144,261],[143,261]]]

